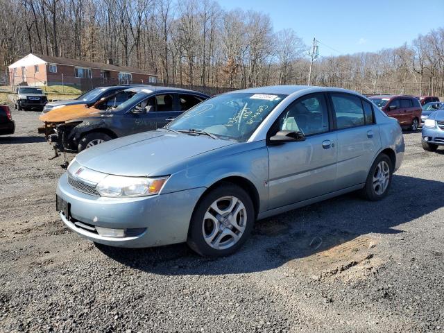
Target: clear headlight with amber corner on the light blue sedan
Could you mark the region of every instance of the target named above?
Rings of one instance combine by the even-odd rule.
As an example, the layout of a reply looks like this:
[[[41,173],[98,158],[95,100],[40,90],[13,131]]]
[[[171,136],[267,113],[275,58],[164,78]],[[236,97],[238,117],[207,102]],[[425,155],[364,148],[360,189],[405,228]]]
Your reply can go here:
[[[169,177],[145,178],[109,175],[96,186],[101,196],[152,196],[158,194]]]

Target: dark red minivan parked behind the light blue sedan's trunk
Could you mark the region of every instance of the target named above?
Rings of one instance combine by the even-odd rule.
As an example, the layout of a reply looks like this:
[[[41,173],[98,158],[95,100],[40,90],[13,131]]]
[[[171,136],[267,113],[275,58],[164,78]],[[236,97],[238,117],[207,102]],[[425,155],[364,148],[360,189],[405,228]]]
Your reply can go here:
[[[422,108],[419,100],[413,96],[377,95],[369,97],[388,117],[398,119],[402,128],[418,130]]]

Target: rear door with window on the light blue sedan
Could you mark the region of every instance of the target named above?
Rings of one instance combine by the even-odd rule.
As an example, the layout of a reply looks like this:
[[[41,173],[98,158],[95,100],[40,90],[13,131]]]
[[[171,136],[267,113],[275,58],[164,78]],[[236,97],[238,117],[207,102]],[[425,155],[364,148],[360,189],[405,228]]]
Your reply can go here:
[[[337,135],[336,190],[366,182],[368,169],[381,147],[373,106],[359,96],[331,93]]]

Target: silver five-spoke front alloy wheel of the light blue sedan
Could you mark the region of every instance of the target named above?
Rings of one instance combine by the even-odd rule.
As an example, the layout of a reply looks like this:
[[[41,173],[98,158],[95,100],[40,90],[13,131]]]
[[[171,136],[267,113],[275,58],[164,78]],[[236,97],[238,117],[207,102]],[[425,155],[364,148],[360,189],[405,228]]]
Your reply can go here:
[[[202,232],[205,242],[216,250],[231,248],[241,239],[247,224],[244,203],[234,196],[215,200],[203,217]]]

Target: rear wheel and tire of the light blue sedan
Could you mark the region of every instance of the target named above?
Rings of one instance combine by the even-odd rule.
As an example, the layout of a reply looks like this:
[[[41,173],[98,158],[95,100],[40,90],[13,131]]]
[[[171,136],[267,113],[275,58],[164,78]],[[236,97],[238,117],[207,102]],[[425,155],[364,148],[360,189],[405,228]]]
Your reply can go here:
[[[379,173],[380,171],[383,171],[382,174]],[[380,154],[368,172],[366,185],[361,189],[361,196],[370,201],[383,199],[390,189],[392,175],[393,165],[390,158],[383,153]],[[375,180],[375,178],[378,179]]]

